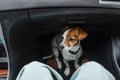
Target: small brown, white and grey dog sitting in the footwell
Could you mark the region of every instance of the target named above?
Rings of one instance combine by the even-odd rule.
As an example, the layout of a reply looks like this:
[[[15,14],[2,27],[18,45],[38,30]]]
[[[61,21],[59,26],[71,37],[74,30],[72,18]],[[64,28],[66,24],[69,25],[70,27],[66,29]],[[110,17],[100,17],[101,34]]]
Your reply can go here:
[[[74,66],[77,69],[79,67],[78,61],[83,53],[80,41],[87,37],[87,32],[79,27],[69,28],[64,27],[62,34],[56,35],[52,40],[52,52],[56,59],[58,68],[62,68],[61,61],[59,60],[59,54],[63,56],[63,61],[66,65],[64,74],[68,76],[70,74],[70,65],[68,61],[74,60]],[[45,58],[44,58],[45,59]]]

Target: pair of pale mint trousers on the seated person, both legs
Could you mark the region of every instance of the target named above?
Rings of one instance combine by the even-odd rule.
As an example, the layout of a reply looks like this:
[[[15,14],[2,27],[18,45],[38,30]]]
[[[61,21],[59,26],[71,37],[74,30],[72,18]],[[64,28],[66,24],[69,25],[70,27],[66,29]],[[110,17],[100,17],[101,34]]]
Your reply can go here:
[[[21,69],[16,80],[63,80],[63,78],[51,67],[33,61]],[[90,61],[79,67],[70,80],[115,80],[115,78],[102,65]]]

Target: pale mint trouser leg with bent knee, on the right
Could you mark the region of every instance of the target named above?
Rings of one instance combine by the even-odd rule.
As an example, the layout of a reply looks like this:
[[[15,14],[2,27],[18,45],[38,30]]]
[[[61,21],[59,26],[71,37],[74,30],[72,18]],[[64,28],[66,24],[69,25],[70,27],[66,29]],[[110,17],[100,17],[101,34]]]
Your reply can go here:
[[[79,67],[70,80],[115,80],[115,78],[102,65],[90,61]]]

